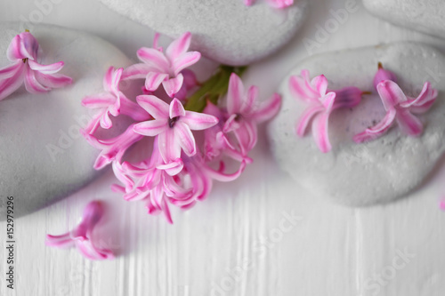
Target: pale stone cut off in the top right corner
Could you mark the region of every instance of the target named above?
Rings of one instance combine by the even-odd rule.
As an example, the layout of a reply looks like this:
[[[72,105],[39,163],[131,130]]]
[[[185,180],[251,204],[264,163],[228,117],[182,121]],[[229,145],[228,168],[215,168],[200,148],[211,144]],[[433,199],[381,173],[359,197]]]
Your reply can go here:
[[[443,0],[363,0],[369,12],[393,24],[445,38]]]

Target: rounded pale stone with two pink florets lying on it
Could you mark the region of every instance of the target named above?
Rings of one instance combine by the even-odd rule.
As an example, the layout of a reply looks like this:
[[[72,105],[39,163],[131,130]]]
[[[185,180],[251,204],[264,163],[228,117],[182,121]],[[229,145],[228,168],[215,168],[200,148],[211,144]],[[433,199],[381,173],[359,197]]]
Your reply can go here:
[[[419,138],[392,129],[377,140],[356,144],[352,136],[379,122],[384,108],[373,89],[377,63],[393,71],[408,95],[417,96],[425,81],[439,91],[433,107],[419,116],[425,130]],[[332,150],[320,152],[311,129],[303,138],[295,135],[295,122],[306,104],[295,100],[288,79],[307,68],[311,78],[324,74],[329,89],[357,86],[364,95],[359,106],[337,109],[329,119]],[[440,73],[445,59],[424,44],[398,43],[356,50],[330,52],[303,60],[281,84],[283,106],[271,125],[271,149],[279,166],[315,196],[338,204],[365,206],[383,204],[407,196],[433,171],[445,150],[445,84]]]

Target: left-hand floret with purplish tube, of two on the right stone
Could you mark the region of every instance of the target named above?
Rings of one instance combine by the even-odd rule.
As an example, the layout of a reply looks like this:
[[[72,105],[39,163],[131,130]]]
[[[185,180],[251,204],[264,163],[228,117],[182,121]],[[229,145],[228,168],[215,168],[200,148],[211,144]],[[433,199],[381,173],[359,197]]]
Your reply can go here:
[[[295,125],[295,132],[303,137],[312,123],[312,135],[321,152],[327,153],[332,146],[328,137],[329,116],[336,108],[352,108],[360,103],[361,91],[356,87],[345,87],[328,92],[328,79],[315,76],[310,80],[309,71],[303,69],[301,76],[291,76],[290,92],[299,100],[309,104]]]

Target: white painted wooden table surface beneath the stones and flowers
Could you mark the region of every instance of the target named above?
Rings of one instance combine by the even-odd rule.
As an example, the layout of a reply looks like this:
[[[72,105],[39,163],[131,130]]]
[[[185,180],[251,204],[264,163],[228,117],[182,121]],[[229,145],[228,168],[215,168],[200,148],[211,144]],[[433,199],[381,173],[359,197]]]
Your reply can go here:
[[[44,15],[46,23],[101,36],[134,60],[138,48],[151,44],[150,29],[96,1],[54,2],[59,3]],[[397,28],[368,14],[362,4],[358,7],[326,40],[319,40],[314,52],[398,40],[432,44],[445,52],[445,40]],[[260,85],[266,99],[309,55],[302,39],[317,40],[319,26],[333,18],[329,10],[339,8],[344,8],[343,0],[312,0],[302,31],[283,50],[252,65],[245,83]],[[4,0],[0,21],[29,20],[36,9],[34,0]],[[445,194],[444,165],[408,198],[344,208],[311,196],[280,172],[264,128],[260,134],[252,153],[255,163],[239,180],[217,183],[212,195],[190,211],[174,210],[174,226],[146,214],[142,203],[125,202],[111,192],[111,172],[77,194],[15,220],[13,291],[4,280],[6,223],[1,222],[0,295],[444,295],[445,212],[438,208]],[[93,199],[107,203],[102,244],[118,250],[116,260],[85,260],[76,249],[44,245],[45,234],[67,231]]]

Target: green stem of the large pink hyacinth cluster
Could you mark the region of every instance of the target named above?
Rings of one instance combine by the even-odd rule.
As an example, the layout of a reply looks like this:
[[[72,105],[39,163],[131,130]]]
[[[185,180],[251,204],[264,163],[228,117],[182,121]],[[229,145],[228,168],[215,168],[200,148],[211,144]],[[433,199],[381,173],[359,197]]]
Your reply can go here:
[[[204,108],[206,108],[207,100],[216,105],[218,100],[223,97],[229,89],[231,74],[236,73],[238,76],[242,76],[246,70],[247,66],[220,66],[214,76],[208,78],[206,82],[201,84],[198,91],[190,96],[184,108],[190,111],[202,112]]]

